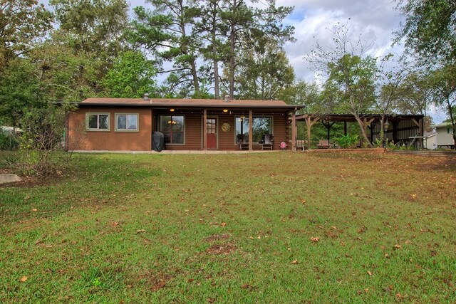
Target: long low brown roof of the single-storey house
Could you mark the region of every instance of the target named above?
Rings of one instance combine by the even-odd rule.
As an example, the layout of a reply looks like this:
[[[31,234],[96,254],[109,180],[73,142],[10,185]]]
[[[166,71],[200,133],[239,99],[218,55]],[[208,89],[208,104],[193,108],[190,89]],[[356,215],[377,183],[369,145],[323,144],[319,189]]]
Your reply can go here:
[[[172,99],[172,98],[88,98],[79,105],[117,105],[144,107],[180,107],[180,108],[302,108],[299,105],[287,105],[282,100],[229,100],[219,99]]]

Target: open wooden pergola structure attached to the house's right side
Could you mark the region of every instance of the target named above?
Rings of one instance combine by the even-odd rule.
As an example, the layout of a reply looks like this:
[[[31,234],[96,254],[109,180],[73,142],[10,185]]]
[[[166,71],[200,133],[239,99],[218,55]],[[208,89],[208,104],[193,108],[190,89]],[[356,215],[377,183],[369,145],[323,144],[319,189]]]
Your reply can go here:
[[[371,143],[380,137],[380,114],[361,114],[363,127]],[[384,130],[385,138],[393,142],[419,142],[423,146],[423,117],[424,115],[388,114],[384,115],[385,122],[388,122],[388,130]],[[292,125],[296,128],[296,122],[306,122],[307,126],[307,148],[311,147],[311,128],[316,122],[321,122],[328,130],[328,140],[331,127],[336,122],[343,122],[343,133],[347,135],[347,122],[357,122],[356,117],[351,114],[302,114],[293,117]],[[296,134],[296,131],[294,132]],[[294,138],[293,147],[296,147]]]

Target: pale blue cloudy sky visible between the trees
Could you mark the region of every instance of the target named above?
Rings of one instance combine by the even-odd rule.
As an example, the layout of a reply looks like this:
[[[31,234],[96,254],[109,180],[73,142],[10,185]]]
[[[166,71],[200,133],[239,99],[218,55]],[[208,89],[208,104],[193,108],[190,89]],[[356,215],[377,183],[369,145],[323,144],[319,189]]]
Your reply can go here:
[[[40,0],[47,4],[48,0]],[[130,0],[130,7],[145,6],[145,0]],[[261,4],[261,0],[259,0]],[[393,0],[276,0],[277,6],[294,6],[294,12],[284,20],[294,26],[296,42],[286,43],[285,51],[296,76],[302,80],[316,79],[306,55],[314,48],[316,41],[321,46],[331,46],[331,29],[336,23],[347,23],[353,39],[373,42],[371,53],[382,56],[387,53],[400,54],[402,46],[391,46],[393,32],[397,31],[403,17],[395,10]],[[445,120],[432,110],[435,122]]]

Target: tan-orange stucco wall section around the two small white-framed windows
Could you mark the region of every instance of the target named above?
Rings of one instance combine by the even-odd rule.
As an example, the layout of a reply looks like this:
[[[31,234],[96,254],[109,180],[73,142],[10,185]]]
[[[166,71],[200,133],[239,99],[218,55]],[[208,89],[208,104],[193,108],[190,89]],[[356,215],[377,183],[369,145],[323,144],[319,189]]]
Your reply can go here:
[[[110,130],[86,130],[87,112],[109,113]],[[139,132],[116,132],[115,113],[138,113]],[[68,116],[68,150],[152,150],[152,116],[142,108],[80,108]]]

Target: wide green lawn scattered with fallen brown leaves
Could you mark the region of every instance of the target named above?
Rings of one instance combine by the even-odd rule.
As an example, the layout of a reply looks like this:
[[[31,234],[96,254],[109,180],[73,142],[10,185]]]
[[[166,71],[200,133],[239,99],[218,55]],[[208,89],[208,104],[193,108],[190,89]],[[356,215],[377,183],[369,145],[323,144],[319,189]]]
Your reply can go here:
[[[0,188],[0,303],[455,303],[456,162],[79,154]]]

